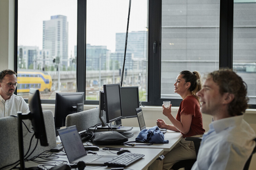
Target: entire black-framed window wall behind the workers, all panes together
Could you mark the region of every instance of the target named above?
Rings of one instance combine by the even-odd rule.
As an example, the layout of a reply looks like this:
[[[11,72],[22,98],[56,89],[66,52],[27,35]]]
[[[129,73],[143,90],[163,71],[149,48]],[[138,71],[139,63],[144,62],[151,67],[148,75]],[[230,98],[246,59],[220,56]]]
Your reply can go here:
[[[29,87],[40,88],[42,99],[84,91],[85,104],[98,104],[103,84],[120,83],[129,0],[17,1],[18,95],[26,98]],[[203,76],[233,66],[255,107],[255,2],[234,2],[132,0],[122,86],[138,86],[143,105],[179,106],[180,71]],[[51,85],[34,81],[40,77]]]

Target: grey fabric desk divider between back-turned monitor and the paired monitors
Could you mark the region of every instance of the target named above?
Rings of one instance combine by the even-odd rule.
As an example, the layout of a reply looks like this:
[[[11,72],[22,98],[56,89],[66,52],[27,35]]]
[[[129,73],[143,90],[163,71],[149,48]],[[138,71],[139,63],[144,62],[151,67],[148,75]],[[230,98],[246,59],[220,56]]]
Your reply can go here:
[[[103,113],[106,120],[106,113]],[[76,125],[78,132],[86,130],[88,127],[101,123],[99,118],[99,108],[85,110],[78,113],[69,114],[66,117],[66,127]]]

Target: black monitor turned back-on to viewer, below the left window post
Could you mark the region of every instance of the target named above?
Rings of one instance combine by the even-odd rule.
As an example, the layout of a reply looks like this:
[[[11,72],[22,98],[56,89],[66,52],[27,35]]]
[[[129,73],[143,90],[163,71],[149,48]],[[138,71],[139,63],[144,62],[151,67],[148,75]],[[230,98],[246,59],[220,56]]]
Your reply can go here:
[[[56,93],[55,98],[55,132],[66,125],[66,117],[69,114],[84,110],[84,92]]]

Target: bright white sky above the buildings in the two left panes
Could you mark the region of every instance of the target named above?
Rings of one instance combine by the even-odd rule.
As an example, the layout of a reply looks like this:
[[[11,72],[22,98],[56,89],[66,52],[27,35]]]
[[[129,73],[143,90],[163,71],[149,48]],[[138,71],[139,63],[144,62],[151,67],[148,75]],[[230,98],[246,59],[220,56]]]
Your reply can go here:
[[[90,32],[86,37],[87,44],[107,46],[107,49],[114,52],[115,33],[126,32],[129,0],[93,0],[87,1],[87,6],[90,6],[87,8],[86,29]],[[43,46],[43,21],[50,20],[50,16],[66,16],[69,23],[68,57],[74,55],[74,46],[77,45],[77,0],[23,0],[18,4],[18,15],[18,46],[38,46],[39,49]],[[147,1],[132,2],[129,32],[145,31],[146,27]]]

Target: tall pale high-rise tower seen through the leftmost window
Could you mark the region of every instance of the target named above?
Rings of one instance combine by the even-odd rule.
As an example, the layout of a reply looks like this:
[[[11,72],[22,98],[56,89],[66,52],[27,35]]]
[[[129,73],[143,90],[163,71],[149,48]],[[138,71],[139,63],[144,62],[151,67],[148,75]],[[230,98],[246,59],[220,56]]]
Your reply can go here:
[[[43,21],[43,49],[49,49],[52,57],[60,57],[61,67],[68,66],[68,22],[62,15]]]

